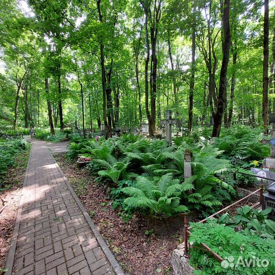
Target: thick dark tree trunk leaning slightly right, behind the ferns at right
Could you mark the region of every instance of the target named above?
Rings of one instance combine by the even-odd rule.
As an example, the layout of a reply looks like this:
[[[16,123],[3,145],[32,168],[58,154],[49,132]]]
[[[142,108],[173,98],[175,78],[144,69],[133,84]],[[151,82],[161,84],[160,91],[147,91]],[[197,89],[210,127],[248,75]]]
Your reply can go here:
[[[221,67],[221,74],[219,75],[219,89],[217,98],[217,111],[213,115],[214,125],[212,136],[219,136],[222,127],[222,119],[225,106],[225,94],[226,94],[226,78],[229,62],[230,51],[230,24],[229,24],[229,11],[230,0],[225,0],[223,4],[223,34],[224,34],[224,46],[223,46],[223,61]]]

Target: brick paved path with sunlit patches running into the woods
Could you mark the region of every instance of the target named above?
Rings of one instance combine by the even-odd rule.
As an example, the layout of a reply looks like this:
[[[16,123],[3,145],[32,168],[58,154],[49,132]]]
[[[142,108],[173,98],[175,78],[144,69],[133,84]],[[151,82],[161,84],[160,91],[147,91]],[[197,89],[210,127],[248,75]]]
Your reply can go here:
[[[110,252],[101,239],[103,253],[95,237],[99,233],[91,230],[70,188],[45,143],[33,142],[6,273],[101,275],[116,274],[115,268],[123,274],[112,254],[113,266],[107,260]]]

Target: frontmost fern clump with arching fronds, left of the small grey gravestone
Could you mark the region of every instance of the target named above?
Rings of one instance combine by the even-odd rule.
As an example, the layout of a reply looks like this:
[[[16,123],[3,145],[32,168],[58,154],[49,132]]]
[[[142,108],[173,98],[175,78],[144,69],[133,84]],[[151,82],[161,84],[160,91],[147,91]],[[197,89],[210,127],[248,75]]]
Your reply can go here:
[[[124,203],[131,208],[149,209],[152,215],[168,215],[187,212],[188,208],[180,205],[183,191],[193,188],[193,184],[180,184],[179,179],[173,179],[173,174],[163,175],[153,181],[148,177],[136,178],[136,187],[125,187],[123,192],[130,196]]]

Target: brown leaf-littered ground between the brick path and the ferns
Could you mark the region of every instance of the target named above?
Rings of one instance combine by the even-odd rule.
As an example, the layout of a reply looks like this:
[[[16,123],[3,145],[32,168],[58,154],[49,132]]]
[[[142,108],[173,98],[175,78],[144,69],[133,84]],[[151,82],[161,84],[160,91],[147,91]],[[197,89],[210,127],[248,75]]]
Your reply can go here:
[[[119,209],[113,209],[106,189],[100,186],[86,169],[77,169],[74,162],[66,160],[65,153],[55,153],[54,157],[126,273],[173,273],[171,256],[173,250],[183,241],[183,216],[156,220],[143,215],[133,215],[127,220]],[[244,202],[236,204],[230,212],[236,214],[237,207],[243,205]],[[201,220],[191,214],[188,214],[187,218],[188,222]]]

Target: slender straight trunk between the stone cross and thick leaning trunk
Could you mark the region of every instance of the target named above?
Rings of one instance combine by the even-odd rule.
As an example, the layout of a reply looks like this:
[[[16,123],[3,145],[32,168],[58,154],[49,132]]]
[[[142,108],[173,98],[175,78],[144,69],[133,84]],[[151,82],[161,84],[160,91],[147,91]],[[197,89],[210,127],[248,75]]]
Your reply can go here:
[[[195,3],[193,1],[193,15],[195,15]],[[189,111],[188,111],[188,131],[192,130],[193,126],[193,97],[195,86],[195,50],[196,50],[196,27],[195,18],[193,18],[193,32],[192,32],[192,65],[191,65],[191,79],[189,90]]]

